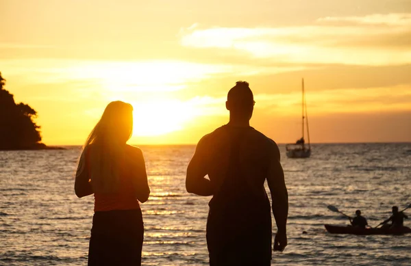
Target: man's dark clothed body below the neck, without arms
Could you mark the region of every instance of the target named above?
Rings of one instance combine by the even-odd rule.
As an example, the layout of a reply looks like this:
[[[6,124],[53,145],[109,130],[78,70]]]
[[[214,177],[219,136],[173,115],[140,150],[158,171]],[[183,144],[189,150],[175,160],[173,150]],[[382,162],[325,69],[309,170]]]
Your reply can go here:
[[[207,223],[210,265],[269,265],[271,209],[264,181],[275,142],[252,127],[229,125],[201,142],[197,152],[213,191]]]

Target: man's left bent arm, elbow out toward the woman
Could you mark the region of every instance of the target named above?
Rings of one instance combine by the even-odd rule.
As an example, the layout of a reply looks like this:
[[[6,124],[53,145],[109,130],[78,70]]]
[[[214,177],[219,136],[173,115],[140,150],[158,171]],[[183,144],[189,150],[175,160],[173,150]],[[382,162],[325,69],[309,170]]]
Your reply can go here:
[[[208,147],[205,142],[205,137],[200,139],[195,153],[190,163],[188,163],[186,189],[189,193],[194,193],[199,196],[212,196],[211,182],[205,178],[208,174],[206,161],[206,149]]]

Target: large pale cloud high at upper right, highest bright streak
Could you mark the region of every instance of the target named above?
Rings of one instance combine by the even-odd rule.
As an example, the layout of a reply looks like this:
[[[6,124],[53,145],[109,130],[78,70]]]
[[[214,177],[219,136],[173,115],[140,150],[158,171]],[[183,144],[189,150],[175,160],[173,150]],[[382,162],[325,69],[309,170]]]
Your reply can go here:
[[[378,66],[411,62],[410,32],[411,14],[373,14],[319,18],[300,27],[194,27],[182,31],[180,41],[186,47],[235,50],[277,62]]]

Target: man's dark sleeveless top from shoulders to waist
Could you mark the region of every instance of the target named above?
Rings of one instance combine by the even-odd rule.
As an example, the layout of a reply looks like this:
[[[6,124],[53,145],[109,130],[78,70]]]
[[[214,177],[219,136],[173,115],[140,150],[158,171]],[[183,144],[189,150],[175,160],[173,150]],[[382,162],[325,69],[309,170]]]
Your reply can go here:
[[[252,127],[225,125],[206,135],[203,156],[213,187],[210,208],[242,208],[264,204],[271,152],[276,144]]]

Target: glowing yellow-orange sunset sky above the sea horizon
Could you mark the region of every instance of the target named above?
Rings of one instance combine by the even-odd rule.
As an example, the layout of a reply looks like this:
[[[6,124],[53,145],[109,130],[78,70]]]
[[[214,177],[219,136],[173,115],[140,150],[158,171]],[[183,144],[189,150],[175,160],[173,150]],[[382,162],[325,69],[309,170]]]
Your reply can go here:
[[[43,142],[82,144],[113,100],[134,144],[195,144],[249,81],[251,125],[312,142],[411,142],[409,0],[0,0],[0,71]]]

